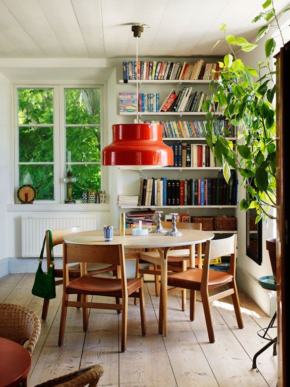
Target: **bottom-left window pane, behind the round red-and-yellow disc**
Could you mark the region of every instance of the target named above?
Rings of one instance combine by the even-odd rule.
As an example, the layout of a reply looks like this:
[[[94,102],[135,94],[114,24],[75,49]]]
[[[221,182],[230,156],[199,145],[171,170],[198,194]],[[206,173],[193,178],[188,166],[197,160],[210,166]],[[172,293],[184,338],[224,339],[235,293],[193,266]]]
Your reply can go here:
[[[31,184],[36,200],[53,200],[53,165],[19,165],[19,185]]]

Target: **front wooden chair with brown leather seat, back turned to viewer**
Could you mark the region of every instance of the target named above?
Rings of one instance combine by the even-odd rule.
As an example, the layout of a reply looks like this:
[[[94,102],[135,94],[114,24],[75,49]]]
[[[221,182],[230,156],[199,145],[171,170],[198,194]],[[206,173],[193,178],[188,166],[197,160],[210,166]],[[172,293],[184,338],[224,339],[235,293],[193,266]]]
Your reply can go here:
[[[70,282],[69,264],[80,262],[81,277]],[[88,262],[106,262],[117,265],[118,278],[101,278],[87,275]],[[83,329],[88,328],[88,308],[114,309],[122,311],[121,350],[126,350],[128,297],[140,298],[142,335],[146,335],[145,304],[143,281],[126,277],[125,254],[123,245],[81,245],[64,243],[64,293],[60,324],[59,346],[64,343],[68,306],[83,308]],[[81,301],[69,301],[70,294],[82,295]],[[87,295],[122,298],[122,305],[88,302]]]

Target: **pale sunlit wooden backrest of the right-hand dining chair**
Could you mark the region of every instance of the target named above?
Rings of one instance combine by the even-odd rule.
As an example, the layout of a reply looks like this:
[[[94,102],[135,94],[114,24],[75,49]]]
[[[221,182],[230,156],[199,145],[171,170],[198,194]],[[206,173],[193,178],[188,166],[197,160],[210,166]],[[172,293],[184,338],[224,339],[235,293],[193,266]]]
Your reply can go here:
[[[228,238],[214,239],[206,242],[203,261],[202,282],[208,282],[209,263],[212,259],[230,255],[228,272],[236,275],[237,234]]]

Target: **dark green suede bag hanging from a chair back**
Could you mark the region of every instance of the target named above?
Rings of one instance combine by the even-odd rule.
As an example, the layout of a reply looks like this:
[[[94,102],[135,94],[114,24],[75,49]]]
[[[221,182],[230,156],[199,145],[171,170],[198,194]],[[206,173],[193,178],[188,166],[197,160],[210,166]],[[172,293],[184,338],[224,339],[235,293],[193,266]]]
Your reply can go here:
[[[39,264],[36,270],[34,284],[32,287],[32,294],[37,297],[51,299],[51,298],[55,298],[56,294],[55,294],[52,235],[50,230],[48,230],[48,232],[49,232],[49,248],[50,248],[50,256],[51,256],[50,267],[47,274],[43,272],[41,267],[42,260],[43,260],[44,246],[45,246],[45,237],[44,237],[44,241],[42,244],[42,249],[39,257]]]

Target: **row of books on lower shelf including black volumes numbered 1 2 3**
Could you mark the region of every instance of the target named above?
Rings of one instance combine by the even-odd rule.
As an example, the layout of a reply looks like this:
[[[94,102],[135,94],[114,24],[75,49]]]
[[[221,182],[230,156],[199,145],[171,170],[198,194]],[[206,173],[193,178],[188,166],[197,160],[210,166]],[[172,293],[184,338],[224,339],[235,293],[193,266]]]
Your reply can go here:
[[[237,205],[238,179],[231,174],[224,178],[169,180],[140,179],[138,205]]]

